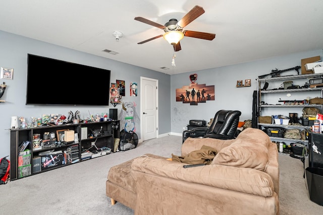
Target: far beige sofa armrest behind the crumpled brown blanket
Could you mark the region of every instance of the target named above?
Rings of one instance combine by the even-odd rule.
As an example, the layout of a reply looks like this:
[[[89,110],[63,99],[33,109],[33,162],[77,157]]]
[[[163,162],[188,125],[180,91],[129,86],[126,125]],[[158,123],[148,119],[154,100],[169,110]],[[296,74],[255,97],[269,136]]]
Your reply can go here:
[[[200,150],[201,147],[209,146],[220,152],[223,148],[230,146],[234,139],[214,139],[214,138],[192,138],[188,137],[182,145],[182,156],[187,156],[190,152]]]

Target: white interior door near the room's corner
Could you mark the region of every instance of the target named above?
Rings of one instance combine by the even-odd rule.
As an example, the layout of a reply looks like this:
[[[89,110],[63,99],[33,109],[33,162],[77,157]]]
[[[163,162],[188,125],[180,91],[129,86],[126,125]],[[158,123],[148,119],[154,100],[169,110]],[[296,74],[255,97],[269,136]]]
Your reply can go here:
[[[140,78],[142,141],[158,136],[158,80]]]

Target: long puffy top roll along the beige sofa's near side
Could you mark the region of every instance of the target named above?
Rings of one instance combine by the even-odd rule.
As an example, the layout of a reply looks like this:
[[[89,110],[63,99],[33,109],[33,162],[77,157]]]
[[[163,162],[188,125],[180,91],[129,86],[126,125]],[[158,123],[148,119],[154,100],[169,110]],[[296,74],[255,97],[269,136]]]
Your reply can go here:
[[[174,183],[180,180],[264,197],[274,193],[272,178],[259,170],[224,165],[183,168],[183,165],[166,159],[136,158],[131,171],[160,176],[160,180],[175,179]]]

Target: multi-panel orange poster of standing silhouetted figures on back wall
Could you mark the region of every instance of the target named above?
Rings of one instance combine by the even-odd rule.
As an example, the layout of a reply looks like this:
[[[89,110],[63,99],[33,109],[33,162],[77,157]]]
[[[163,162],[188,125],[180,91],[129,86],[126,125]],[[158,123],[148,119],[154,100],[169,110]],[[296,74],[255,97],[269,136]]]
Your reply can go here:
[[[215,100],[216,93],[214,85],[206,86],[205,84],[191,84],[176,89],[176,101],[197,105],[206,101]]]

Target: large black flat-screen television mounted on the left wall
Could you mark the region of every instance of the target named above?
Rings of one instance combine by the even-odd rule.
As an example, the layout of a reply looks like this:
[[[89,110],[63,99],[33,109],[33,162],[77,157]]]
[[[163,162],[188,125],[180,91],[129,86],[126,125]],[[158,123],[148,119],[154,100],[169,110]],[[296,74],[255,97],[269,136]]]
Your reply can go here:
[[[28,54],[26,105],[109,105],[111,70]]]

